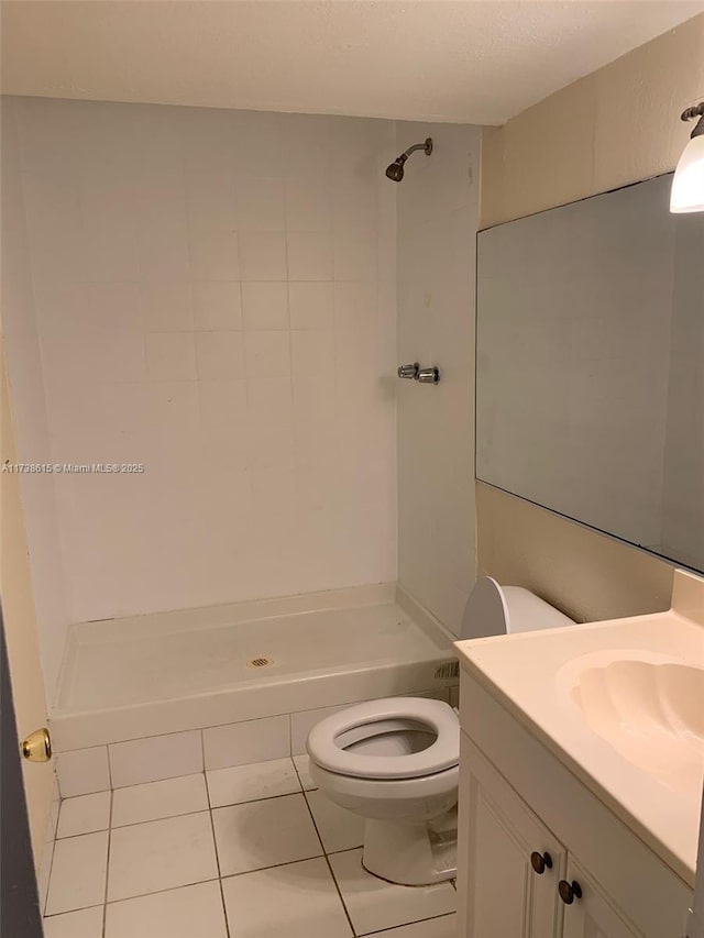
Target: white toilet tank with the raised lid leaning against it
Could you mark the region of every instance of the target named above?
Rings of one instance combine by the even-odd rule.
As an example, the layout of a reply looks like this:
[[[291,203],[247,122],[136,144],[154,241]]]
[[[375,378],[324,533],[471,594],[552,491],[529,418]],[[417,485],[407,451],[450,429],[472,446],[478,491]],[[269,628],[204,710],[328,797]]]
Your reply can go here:
[[[464,607],[460,639],[512,634],[573,626],[574,619],[521,586],[499,586],[491,576],[476,581]]]

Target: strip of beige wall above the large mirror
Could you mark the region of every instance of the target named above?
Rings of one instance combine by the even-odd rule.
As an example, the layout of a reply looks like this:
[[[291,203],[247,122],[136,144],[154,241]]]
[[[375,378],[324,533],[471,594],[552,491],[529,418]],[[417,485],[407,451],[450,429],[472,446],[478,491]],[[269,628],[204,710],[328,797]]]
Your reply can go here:
[[[480,228],[667,173],[704,97],[704,13],[484,132]]]

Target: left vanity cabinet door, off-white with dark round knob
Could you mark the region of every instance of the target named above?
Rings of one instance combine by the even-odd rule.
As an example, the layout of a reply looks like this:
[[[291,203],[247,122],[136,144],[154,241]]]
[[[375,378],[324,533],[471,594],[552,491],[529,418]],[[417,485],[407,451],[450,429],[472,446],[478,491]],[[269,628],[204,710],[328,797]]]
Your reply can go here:
[[[557,886],[565,873],[564,848],[466,737],[461,773],[463,938],[559,938],[563,906]],[[532,853],[542,872],[534,869]]]

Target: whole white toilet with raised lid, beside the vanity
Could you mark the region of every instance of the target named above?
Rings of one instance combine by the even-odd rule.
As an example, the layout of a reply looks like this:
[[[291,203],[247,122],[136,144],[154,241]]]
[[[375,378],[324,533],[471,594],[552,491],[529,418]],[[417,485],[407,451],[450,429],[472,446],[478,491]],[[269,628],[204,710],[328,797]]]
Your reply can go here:
[[[572,619],[518,586],[479,580],[460,640],[553,629]],[[457,872],[460,720],[442,700],[385,697],[346,707],[308,735],[310,775],[328,797],[365,818],[363,865],[400,885]]]

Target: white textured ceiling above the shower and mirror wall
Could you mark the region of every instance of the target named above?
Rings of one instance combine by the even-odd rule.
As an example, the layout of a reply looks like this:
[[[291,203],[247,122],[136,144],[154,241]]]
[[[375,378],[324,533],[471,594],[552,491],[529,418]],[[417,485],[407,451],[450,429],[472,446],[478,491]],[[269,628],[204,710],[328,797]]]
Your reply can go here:
[[[4,0],[11,95],[499,124],[704,0]]]

